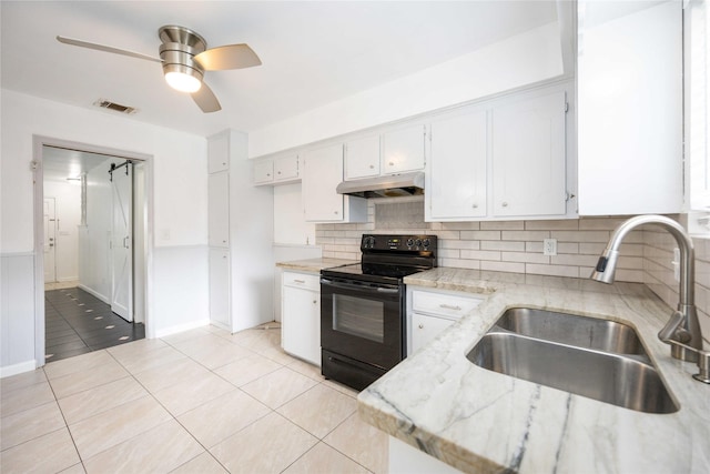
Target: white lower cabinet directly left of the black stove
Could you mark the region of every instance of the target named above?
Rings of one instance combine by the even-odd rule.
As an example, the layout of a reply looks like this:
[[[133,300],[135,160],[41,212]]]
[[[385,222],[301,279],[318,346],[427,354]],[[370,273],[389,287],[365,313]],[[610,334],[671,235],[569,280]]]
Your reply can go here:
[[[321,365],[321,276],[282,274],[281,344],[284,351]]]

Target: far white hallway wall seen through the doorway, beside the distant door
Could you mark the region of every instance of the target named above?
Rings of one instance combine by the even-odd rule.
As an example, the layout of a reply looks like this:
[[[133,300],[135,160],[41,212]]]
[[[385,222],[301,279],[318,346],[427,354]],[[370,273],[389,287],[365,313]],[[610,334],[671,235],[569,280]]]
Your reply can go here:
[[[57,281],[79,279],[79,224],[81,223],[81,182],[44,180],[44,198],[54,198],[57,234]]]

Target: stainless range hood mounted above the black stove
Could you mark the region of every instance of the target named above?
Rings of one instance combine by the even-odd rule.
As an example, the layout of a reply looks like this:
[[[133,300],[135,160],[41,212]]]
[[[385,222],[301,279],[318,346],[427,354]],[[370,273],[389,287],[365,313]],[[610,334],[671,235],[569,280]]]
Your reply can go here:
[[[397,198],[424,194],[424,172],[394,174],[343,181],[335,189],[339,194],[358,198]]]

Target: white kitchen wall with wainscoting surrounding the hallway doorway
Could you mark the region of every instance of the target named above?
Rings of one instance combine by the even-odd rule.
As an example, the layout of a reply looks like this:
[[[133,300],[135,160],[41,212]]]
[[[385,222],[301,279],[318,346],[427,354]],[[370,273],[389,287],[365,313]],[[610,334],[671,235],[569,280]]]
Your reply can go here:
[[[149,186],[152,186],[150,192],[153,196],[148,230],[152,248],[152,259],[148,262],[149,324],[153,325],[152,332],[155,333],[203,321],[209,304],[206,250],[200,249],[206,249],[207,243],[205,139],[145,124],[136,118],[124,118],[110,111],[69,107],[4,89],[0,100],[0,252],[3,259],[0,366],[24,366],[28,354],[34,354],[36,350],[34,306],[40,303],[24,296],[32,293],[34,281],[28,278],[16,281],[13,265],[7,264],[11,262],[7,259],[27,256],[34,250],[33,173],[30,167],[33,135],[152,157],[152,169],[149,169]],[[170,249],[170,252],[154,252],[156,248]],[[175,268],[190,271],[170,280],[155,276],[168,274]],[[12,289],[6,285],[6,279],[12,281]],[[10,291],[14,293],[9,295],[7,292]],[[18,295],[22,295],[21,299],[18,300]],[[6,296],[12,299],[12,304],[6,304]],[[156,304],[162,301],[171,304]]]

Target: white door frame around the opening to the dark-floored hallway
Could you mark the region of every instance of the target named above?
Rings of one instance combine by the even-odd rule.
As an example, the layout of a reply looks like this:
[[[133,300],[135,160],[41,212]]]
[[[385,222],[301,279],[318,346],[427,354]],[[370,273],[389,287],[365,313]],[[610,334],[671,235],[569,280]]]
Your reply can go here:
[[[105,154],[144,163],[145,195],[142,202],[144,223],[144,288],[145,297],[145,336],[155,337],[153,327],[153,157],[145,153],[119,150],[109,147],[55,139],[44,135],[32,135],[32,170],[34,171],[33,221],[34,221],[34,359],[38,367],[44,365],[44,172],[42,152],[44,147],[78,150],[88,153]],[[135,205],[135,204],[134,204]],[[134,269],[135,271],[135,269]]]

